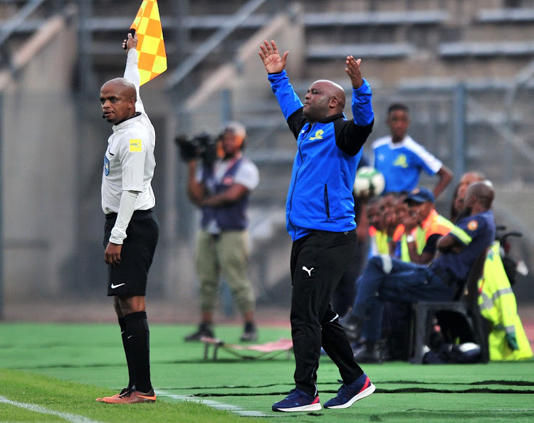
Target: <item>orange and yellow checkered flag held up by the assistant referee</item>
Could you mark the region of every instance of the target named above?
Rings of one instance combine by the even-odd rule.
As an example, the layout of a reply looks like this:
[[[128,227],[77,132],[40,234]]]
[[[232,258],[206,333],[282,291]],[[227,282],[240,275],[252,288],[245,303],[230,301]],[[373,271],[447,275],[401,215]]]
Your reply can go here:
[[[143,0],[132,28],[137,32],[139,75],[143,85],[167,70],[167,54],[157,0]]]

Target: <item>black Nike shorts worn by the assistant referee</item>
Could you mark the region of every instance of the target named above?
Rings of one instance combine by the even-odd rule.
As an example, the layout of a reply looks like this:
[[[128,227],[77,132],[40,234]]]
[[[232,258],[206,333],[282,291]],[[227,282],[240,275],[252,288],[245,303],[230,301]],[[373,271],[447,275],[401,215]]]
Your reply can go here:
[[[116,213],[105,216],[104,249],[110,241]],[[159,223],[152,210],[136,210],[126,229],[120,263],[108,266],[108,296],[145,296],[148,270],[154,258]]]

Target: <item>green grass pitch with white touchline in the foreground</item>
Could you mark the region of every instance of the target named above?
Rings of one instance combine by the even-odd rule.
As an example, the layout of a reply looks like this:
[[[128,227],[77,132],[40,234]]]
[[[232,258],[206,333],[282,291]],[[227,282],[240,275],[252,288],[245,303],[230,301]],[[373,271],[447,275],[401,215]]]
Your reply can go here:
[[[0,323],[0,422],[533,422],[534,361],[488,365],[363,365],[377,390],[349,409],[276,413],[293,388],[293,355],[242,360],[221,350],[204,360],[201,343],[184,343],[192,325],[150,326],[155,404],[112,405],[95,397],[125,386],[117,325]],[[218,326],[236,343],[241,327]],[[260,328],[259,342],[290,338]],[[318,370],[321,402],[339,373],[328,357]]]

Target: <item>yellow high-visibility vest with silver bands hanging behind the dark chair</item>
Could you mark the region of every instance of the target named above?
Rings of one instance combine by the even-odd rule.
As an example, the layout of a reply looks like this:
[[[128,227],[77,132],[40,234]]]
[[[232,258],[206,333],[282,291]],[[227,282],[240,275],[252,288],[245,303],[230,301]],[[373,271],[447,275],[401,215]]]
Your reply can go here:
[[[488,335],[490,360],[523,360],[532,357],[532,349],[518,315],[515,295],[504,271],[501,244],[493,243],[484,263],[483,277],[478,281],[478,306],[483,318],[491,322]],[[518,350],[512,350],[506,334],[515,334]]]

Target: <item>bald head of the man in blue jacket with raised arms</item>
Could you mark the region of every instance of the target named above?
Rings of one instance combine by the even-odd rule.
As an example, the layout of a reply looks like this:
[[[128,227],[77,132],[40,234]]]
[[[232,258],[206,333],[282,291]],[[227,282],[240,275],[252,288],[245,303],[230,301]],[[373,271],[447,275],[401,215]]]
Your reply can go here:
[[[331,80],[316,80],[304,98],[303,115],[312,123],[343,112],[345,91]]]

